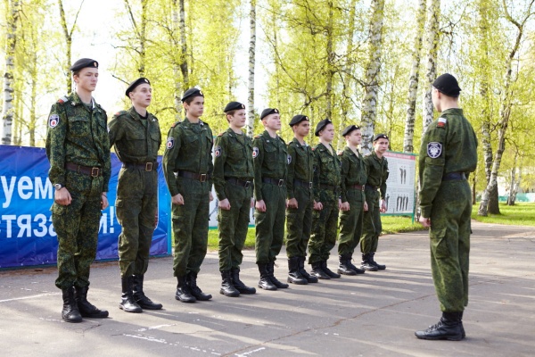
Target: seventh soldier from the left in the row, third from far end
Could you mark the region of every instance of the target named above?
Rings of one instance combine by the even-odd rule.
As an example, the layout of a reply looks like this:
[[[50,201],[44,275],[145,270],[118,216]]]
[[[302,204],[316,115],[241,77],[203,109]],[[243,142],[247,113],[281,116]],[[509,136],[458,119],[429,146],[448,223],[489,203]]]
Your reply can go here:
[[[314,150],[314,212],[312,215],[312,235],[309,240],[309,264],[311,274],[320,279],[340,278],[327,268],[331,249],[336,244],[338,212],[342,208],[340,200],[340,160],[331,142],[334,127],[331,120],[317,123],[315,135],[319,144]]]

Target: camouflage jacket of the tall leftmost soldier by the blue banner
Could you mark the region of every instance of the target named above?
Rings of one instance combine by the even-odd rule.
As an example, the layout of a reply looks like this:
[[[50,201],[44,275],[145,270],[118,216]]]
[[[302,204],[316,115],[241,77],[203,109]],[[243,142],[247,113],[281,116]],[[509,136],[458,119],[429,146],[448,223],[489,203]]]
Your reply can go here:
[[[99,167],[103,170],[103,192],[107,192],[111,176],[108,117],[95,99],[90,106],[92,109],[76,93],[52,105],[46,127],[48,177],[53,184],[65,185],[65,163]]]

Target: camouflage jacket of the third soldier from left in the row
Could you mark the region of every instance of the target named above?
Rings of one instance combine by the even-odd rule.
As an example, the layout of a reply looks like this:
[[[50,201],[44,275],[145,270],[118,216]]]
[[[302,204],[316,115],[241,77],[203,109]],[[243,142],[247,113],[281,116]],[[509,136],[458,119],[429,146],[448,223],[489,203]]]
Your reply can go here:
[[[211,174],[214,169],[211,155],[213,142],[210,126],[202,120],[191,123],[186,118],[171,126],[163,154],[163,171],[171,196],[183,193],[175,177],[177,171],[208,174],[210,179],[207,179],[207,182],[211,187]]]

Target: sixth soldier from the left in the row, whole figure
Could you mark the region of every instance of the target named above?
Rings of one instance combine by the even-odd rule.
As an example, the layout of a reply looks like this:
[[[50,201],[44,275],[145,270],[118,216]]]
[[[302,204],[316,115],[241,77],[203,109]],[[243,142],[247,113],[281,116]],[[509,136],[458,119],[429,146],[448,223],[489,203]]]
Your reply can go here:
[[[288,282],[292,284],[317,283],[317,278],[305,270],[307,245],[312,228],[314,192],[314,152],[305,142],[309,135],[310,120],[305,115],[295,115],[290,121],[293,140],[288,144],[288,180],[286,190],[286,253],[288,255]]]

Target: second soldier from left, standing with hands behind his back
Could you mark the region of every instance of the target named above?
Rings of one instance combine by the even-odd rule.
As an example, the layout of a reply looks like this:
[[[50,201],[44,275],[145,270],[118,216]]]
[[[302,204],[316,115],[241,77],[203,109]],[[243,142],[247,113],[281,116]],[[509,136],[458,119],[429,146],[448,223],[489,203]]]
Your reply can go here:
[[[152,233],[158,215],[158,150],[161,132],[158,119],[147,112],[152,88],[149,79],[132,82],[126,91],[132,101],[128,111],[117,112],[110,121],[110,145],[123,163],[117,185],[119,269],[122,297],[119,308],[127,312],[160,310],[143,291],[149,265]]]

